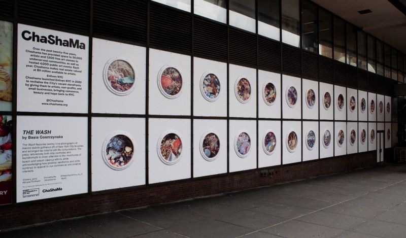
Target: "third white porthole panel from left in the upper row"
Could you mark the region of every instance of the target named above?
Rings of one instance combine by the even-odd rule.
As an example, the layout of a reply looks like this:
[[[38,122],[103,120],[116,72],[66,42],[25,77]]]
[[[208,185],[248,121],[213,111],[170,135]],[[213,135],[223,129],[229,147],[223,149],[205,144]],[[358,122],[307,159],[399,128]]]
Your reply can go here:
[[[193,58],[193,79],[193,114],[226,117],[227,64]]]

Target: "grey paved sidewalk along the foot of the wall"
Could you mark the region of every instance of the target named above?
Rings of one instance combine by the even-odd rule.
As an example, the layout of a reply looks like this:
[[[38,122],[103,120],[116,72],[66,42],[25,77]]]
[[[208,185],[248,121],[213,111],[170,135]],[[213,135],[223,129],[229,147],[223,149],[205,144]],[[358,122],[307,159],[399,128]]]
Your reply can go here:
[[[405,237],[406,165],[0,232],[0,237]]]

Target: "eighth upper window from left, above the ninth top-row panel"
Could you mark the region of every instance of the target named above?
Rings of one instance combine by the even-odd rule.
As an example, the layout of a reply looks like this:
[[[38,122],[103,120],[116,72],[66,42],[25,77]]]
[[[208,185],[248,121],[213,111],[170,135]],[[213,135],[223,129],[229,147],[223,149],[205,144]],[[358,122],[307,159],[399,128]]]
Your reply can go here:
[[[334,27],[334,41],[333,41],[333,49],[334,49],[334,59],[341,61],[343,63],[346,62],[346,51],[345,51],[345,22],[340,18],[334,16],[333,18],[333,27]]]

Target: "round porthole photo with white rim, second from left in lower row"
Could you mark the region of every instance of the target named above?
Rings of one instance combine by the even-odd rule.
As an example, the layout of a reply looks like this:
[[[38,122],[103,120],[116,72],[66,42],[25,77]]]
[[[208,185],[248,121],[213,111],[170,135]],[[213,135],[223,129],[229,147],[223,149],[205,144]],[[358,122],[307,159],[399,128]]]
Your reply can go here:
[[[165,164],[174,164],[182,155],[182,140],[175,131],[165,132],[158,140],[158,155]]]

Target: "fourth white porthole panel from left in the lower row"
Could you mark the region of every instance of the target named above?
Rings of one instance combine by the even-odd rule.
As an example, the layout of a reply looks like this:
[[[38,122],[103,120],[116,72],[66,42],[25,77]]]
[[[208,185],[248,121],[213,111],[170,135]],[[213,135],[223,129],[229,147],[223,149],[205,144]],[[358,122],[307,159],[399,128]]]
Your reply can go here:
[[[229,123],[229,171],[236,172],[256,168],[256,121],[230,120]],[[239,137],[239,135],[244,135],[244,133],[249,135],[251,143],[245,137]]]

